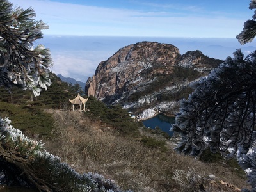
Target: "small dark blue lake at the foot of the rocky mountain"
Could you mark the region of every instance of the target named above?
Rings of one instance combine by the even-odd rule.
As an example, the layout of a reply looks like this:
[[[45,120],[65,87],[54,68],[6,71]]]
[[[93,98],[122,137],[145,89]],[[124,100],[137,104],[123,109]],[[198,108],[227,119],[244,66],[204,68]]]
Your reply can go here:
[[[159,113],[157,116],[143,120],[142,122],[145,127],[150,127],[151,129],[159,127],[162,131],[167,132],[170,136],[173,135],[173,132],[170,131],[170,128],[172,127],[171,124],[174,124],[175,122],[174,117],[169,117],[163,113]]]

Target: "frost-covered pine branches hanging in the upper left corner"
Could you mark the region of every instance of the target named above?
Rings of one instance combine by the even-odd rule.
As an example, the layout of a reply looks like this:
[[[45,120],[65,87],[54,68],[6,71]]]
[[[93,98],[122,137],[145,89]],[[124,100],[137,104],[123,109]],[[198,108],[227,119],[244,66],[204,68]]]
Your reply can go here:
[[[48,68],[52,65],[49,49],[44,45],[34,48],[35,40],[42,38],[42,29],[49,27],[35,20],[32,8],[13,10],[13,4],[0,1],[0,86],[19,86],[40,94],[51,80]]]

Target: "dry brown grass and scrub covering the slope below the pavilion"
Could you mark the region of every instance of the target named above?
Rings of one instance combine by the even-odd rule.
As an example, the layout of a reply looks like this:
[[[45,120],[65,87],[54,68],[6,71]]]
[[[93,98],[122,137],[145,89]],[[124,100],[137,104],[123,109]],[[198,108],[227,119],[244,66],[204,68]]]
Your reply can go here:
[[[243,178],[220,164],[206,164],[177,154],[170,141],[166,142],[168,151],[161,152],[146,147],[138,140],[118,136],[107,125],[102,126],[76,112],[56,111],[54,118],[54,136],[45,143],[45,148],[77,172],[100,173],[115,180],[122,189],[167,192],[200,191],[200,188],[216,191],[218,188],[218,191],[223,191],[226,186],[224,188],[220,180],[236,184],[239,188],[246,186]],[[189,178],[195,182],[186,177],[188,172],[192,175]],[[215,175],[215,178],[209,175]],[[232,188],[224,191],[229,190],[235,191]]]

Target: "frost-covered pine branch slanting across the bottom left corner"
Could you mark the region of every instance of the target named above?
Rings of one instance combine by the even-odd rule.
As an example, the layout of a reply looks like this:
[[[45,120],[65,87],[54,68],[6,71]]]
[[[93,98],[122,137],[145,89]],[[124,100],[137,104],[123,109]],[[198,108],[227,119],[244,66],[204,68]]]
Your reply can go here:
[[[43,191],[122,191],[102,175],[77,173],[59,157],[45,151],[41,141],[30,140],[10,123],[8,118],[0,118],[0,162],[5,164],[5,177],[0,182],[12,182],[8,179],[15,177],[19,185],[35,186]]]

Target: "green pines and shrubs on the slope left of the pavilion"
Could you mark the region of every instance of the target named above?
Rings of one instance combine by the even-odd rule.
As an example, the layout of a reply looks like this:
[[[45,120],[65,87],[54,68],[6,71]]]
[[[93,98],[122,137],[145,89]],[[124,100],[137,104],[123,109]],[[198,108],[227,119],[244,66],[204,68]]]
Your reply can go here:
[[[13,127],[19,127],[29,136],[38,138],[51,133],[53,119],[44,109],[71,109],[68,99],[73,99],[77,93],[83,94],[80,86],[65,83],[53,73],[49,75],[52,84],[38,97],[15,87],[11,92],[0,87],[0,116],[8,116]]]

